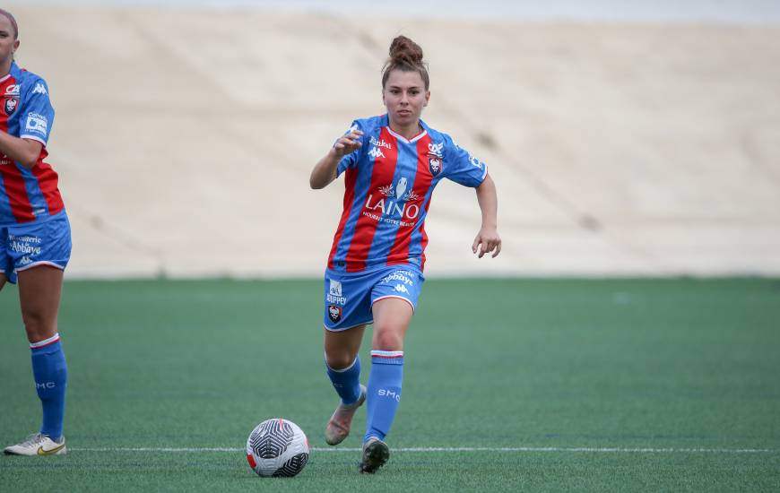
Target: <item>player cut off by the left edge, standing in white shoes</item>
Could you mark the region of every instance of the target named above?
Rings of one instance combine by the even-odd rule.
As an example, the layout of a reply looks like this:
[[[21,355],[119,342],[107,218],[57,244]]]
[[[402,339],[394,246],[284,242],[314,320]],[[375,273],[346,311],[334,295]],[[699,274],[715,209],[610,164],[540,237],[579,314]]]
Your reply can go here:
[[[63,416],[67,367],[56,329],[71,230],[57,176],[43,162],[54,109],[48,85],[16,65],[19,28],[0,9],[0,290],[19,281],[22,320],[32,350],[32,373],[43,424],[5,454],[65,454]]]

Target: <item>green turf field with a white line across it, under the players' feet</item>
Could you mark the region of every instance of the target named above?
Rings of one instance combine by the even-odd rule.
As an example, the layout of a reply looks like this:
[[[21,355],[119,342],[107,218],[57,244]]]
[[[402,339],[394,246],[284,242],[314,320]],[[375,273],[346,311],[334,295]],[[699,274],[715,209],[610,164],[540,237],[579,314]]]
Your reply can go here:
[[[339,447],[322,438],[321,290],[67,282],[70,451],[0,456],[0,491],[780,490],[780,280],[427,281],[373,476],[363,413]],[[0,331],[10,445],[39,426],[13,286]],[[298,477],[261,479],[242,450],[277,416],[314,448]]]

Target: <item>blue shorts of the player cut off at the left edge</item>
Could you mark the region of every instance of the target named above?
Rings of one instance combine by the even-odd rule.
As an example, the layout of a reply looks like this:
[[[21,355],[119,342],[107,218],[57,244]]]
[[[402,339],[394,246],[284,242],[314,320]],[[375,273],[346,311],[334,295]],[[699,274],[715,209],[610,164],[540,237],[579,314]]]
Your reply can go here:
[[[16,272],[37,265],[65,270],[71,258],[71,226],[65,211],[43,222],[0,226],[0,272],[16,283]]]

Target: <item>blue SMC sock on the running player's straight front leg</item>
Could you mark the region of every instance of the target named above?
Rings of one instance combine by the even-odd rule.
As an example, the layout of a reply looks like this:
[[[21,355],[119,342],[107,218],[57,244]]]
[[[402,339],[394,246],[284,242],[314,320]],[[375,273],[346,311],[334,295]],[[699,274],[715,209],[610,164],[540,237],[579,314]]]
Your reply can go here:
[[[384,440],[401,402],[403,351],[371,351],[371,375],[366,398],[366,436]]]

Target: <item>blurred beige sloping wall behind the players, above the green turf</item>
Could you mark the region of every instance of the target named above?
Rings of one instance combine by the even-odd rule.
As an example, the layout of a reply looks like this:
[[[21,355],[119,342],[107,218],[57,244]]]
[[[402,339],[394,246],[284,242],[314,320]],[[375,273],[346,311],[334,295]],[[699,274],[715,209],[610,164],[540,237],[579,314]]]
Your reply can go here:
[[[424,49],[423,118],[488,163],[430,207],[429,276],[780,273],[780,4],[5,3],[50,85],[68,273],[317,277],[343,181],[308,174],[384,112],[390,41]]]

